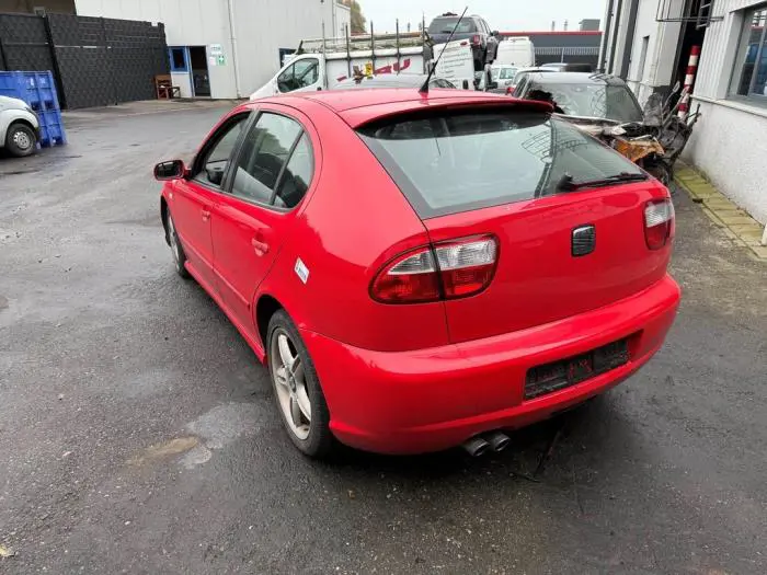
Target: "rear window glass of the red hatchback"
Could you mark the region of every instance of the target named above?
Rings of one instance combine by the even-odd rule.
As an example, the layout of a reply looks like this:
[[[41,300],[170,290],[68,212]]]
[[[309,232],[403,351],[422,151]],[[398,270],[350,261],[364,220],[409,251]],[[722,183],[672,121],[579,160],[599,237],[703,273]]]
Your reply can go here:
[[[360,137],[422,218],[560,193],[633,163],[565,120],[514,111],[399,117]]]

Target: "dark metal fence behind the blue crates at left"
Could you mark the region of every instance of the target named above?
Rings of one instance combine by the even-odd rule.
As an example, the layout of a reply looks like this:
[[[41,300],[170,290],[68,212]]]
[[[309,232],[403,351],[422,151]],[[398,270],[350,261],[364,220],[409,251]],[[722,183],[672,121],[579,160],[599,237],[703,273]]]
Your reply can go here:
[[[50,70],[61,107],[156,97],[169,73],[162,24],[70,14],[0,14],[0,69]]]

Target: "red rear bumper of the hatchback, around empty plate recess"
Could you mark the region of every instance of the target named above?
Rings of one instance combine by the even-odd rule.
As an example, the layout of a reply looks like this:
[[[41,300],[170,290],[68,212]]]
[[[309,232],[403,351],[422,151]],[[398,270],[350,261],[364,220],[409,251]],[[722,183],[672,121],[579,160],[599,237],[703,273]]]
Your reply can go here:
[[[620,383],[663,344],[679,302],[666,276],[608,307],[529,330],[402,353],[360,349],[304,331],[342,442],[385,453],[437,451],[477,434],[524,427]],[[524,400],[528,369],[629,337],[630,360]]]

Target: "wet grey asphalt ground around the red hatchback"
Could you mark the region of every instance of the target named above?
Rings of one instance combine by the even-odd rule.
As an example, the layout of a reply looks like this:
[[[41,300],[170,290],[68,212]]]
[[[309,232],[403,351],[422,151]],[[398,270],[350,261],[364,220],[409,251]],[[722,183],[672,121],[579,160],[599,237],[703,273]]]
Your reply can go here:
[[[0,573],[767,573],[767,266],[687,196],[637,376],[500,455],[317,463],[162,238],[151,168],[228,105],[0,159]]]

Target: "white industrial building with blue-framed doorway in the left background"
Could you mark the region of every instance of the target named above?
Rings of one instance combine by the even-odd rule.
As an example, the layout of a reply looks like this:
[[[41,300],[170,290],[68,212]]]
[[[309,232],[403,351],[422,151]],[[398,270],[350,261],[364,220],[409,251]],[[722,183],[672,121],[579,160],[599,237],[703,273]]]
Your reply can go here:
[[[304,38],[341,35],[350,10],[335,0],[75,0],[77,14],[162,22],[182,96],[244,97]]]

